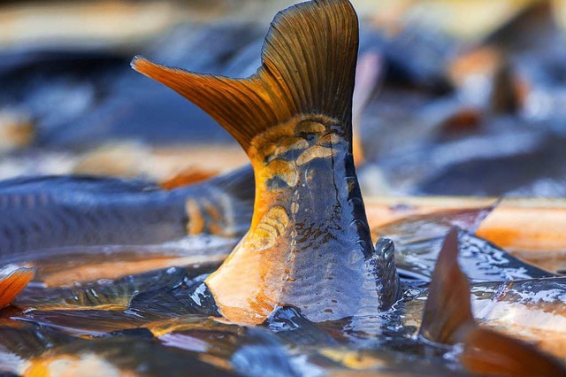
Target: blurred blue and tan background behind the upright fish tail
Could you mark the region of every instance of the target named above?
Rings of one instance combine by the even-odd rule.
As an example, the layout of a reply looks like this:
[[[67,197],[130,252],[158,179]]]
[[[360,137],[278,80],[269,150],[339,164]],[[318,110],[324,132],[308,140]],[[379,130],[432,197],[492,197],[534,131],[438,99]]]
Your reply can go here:
[[[247,163],[165,65],[246,77],[287,0],[0,1],[0,179],[199,181]],[[353,0],[371,196],[566,196],[566,2]]]

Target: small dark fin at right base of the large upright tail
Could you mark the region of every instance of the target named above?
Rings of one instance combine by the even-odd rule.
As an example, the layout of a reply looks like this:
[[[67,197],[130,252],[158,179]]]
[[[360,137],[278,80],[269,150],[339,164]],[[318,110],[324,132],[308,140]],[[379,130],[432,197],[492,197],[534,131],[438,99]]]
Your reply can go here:
[[[375,260],[383,288],[379,297],[379,311],[386,312],[401,298],[402,289],[397,267],[395,266],[395,246],[393,241],[379,238],[375,244]]]

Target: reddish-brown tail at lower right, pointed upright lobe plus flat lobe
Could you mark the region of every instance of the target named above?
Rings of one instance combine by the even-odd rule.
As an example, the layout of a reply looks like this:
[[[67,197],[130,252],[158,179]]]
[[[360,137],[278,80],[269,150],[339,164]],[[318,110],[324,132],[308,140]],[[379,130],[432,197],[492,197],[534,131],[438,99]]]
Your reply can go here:
[[[478,326],[471,311],[470,282],[458,265],[458,251],[457,230],[452,228],[432,273],[420,335],[432,342],[463,343],[459,358],[470,373],[566,375],[565,365],[531,344]]]

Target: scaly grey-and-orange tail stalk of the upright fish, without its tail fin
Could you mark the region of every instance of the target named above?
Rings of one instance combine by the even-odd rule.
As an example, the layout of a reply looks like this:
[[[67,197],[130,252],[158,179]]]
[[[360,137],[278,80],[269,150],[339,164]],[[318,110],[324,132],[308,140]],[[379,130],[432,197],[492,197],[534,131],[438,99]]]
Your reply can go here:
[[[369,228],[348,142],[336,123],[294,119],[277,129],[277,139],[252,142],[290,150],[251,152],[258,154],[251,227],[207,280],[213,291],[226,291],[227,282],[239,276],[232,292],[217,296],[228,318],[253,312],[264,320],[274,307],[293,304],[312,320],[340,319],[354,314],[352,307],[371,290],[377,308],[376,283],[371,286],[373,274],[365,265],[373,253]],[[302,134],[307,128],[316,133]]]

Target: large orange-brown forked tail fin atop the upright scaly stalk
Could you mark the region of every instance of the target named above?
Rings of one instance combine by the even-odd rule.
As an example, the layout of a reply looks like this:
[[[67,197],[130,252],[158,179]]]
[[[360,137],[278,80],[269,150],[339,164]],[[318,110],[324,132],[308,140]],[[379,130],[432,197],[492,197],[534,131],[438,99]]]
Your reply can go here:
[[[265,37],[262,66],[247,79],[191,73],[141,57],[132,67],[202,108],[249,150],[256,135],[300,115],[337,119],[351,137],[357,47],[352,4],[315,0],[278,13]]]

